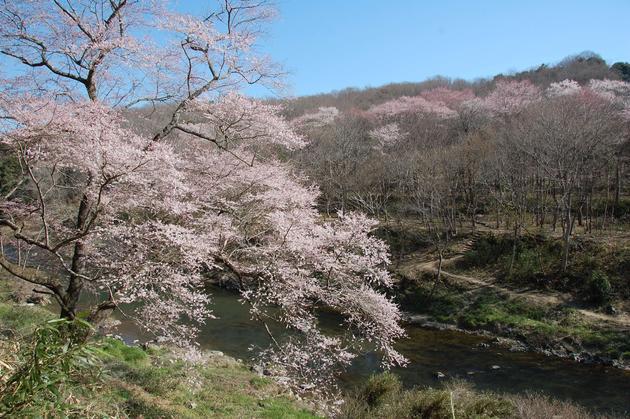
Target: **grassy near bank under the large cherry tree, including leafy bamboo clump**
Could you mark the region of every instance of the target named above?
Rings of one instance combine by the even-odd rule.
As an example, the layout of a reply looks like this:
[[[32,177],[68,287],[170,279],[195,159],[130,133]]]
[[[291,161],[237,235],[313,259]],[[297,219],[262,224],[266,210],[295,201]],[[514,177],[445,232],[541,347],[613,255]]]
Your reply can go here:
[[[111,337],[74,341],[48,309],[12,302],[8,284],[0,281],[0,417],[319,417],[220,352],[191,359]]]

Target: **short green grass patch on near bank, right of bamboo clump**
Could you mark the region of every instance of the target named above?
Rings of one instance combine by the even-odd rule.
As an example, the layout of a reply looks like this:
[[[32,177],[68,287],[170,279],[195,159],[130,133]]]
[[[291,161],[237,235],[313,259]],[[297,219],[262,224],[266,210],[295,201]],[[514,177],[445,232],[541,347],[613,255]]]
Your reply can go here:
[[[114,353],[118,355],[118,351]],[[130,416],[317,417],[284,395],[271,380],[229,358],[211,357],[202,364],[190,364],[172,356],[147,355],[138,362],[139,357],[129,360],[122,355],[110,360],[111,382],[124,383],[114,387]]]

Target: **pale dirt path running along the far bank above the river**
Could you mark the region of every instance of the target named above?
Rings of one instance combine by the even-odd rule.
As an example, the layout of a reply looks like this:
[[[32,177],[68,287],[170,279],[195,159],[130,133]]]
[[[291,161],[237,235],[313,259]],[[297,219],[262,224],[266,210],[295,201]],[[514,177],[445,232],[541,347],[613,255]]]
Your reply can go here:
[[[466,250],[470,246],[470,243],[464,243],[462,250]],[[458,249],[459,250],[459,249]],[[418,262],[420,254],[408,255],[400,264],[398,271],[407,278],[417,279],[420,274],[429,272],[437,274],[438,261]],[[531,289],[515,289],[509,288],[504,285],[497,284],[496,278],[478,278],[467,275],[458,275],[445,270],[445,267],[453,265],[460,260],[463,254],[457,254],[452,258],[444,259],[442,261],[442,277],[456,281],[460,284],[472,286],[473,288],[468,291],[477,291],[479,289],[491,289],[499,292],[509,298],[525,298],[531,303],[548,306],[571,306],[576,309],[584,317],[598,323],[600,326],[612,327],[614,329],[629,329],[630,331],[630,316],[627,313],[619,313],[617,315],[608,315],[598,313],[592,310],[586,310],[575,307],[573,298],[570,294],[553,292],[553,291],[540,291]]]

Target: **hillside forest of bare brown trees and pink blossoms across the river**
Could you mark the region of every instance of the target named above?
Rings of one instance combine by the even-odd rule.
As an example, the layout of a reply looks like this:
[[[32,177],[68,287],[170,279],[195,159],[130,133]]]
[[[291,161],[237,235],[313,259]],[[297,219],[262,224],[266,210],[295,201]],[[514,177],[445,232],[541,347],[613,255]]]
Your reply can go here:
[[[295,159],[327,213],[439,220],[446,236],[477,220],[515,235],[544,227],[568,250],[576,231],[628,220],[630,83],[619,67],[580,55],[474,83],[295,99],[287,115],[309,139]]]

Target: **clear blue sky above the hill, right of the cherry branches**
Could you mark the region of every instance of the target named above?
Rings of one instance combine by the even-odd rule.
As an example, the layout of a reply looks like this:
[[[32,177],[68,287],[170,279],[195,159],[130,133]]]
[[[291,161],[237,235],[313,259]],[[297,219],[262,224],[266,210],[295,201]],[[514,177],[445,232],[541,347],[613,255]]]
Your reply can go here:
[[[263,44],[290,71],[295,95],[488,77],[585,50],[630,61],[630,0],[276,2]]]

